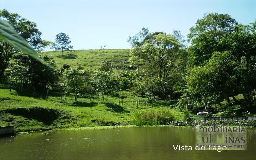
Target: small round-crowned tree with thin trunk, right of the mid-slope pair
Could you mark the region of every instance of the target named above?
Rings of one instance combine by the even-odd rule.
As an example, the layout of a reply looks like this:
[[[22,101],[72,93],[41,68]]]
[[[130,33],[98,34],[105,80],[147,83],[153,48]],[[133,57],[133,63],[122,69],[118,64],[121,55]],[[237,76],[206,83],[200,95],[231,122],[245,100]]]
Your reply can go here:
[[[103,102],[105,103],[104,94],[111,88],[110,73],[96,71],[92,74],[91,81],[96,90],[102,94]]]

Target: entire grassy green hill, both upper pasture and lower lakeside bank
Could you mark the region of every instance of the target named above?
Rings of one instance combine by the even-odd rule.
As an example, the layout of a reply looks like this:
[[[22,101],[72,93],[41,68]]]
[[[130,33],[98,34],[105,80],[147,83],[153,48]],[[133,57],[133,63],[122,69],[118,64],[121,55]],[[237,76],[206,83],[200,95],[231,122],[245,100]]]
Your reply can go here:
[[[43,52],[55,57],[57,68],[63,64],[71,67],[81,66],[84,69],[98,69],[103,60],[111,64],[123,64],[130,69],[128,59],[130,49],[104,49],[104,50],[73,50],[61,52]],[[50,91],[46,100],[46,91],[36,90],[33,95],[31,86],[24,86],[20,92],[21,84],[12,86],[8,90],[8,83],[0,83],[0,126],[15,125],[15,131],[32,131],[52,128],[85,127],[99,125],[130,125],[135,113],[147,111],[169,110],[175,120],[184,117],[183,112],[170,109],[170,104],[165,106],[164,101],[158,101],[152,107],[148,98],[139,97],[134,92],[121,92],[122,99],[108,96],[107,103],[101,97],[91,101],[87,98],[65,96],[64,103],[59,95]],[[138,100],[138,108],[137,106]]]

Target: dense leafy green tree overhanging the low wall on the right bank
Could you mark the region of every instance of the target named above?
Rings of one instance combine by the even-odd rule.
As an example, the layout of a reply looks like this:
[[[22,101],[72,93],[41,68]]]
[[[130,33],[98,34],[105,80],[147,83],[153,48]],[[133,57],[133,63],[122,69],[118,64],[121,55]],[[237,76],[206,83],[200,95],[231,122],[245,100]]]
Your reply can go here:
[[[205,104],[217,103],[242,93],[246,99],[252,98],[255,91],[256,69],[247,64],[245,57],[237,61],[230,51],[214,52],[203,67],[194,67],[187,77],[191,93],[198,93]]]

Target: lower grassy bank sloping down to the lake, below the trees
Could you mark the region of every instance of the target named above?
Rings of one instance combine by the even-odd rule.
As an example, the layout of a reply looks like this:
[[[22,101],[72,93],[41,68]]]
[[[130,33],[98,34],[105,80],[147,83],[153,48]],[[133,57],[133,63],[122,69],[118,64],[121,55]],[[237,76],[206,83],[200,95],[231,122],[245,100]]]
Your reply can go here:
[[[119,99],[108,97],[103,103],[101,98],[90,101],[86,98],[66,96],[65,102],[49,92],[48,99],[44,99],[45,92],[37,91],[32,97],[33,90],[28,86],[20,92],[20,86],[7,90],[8,84],[0,84],[0,126],[15,125],[15,131],[31,131],[52,128],[85,127],[98,125],[130,125],[134,113],[145,111],[169,110],[175,120],[184,117],[183,112],[170,109],[165,102],[159,101],[154,107],[147,98],[138,97],[133,92],[122,92],[123,106]],[[136,106],[138,100],[138,108]],[[122,101],[122,100],[121,100]],[[164,104],[164,105],[163,105]]]

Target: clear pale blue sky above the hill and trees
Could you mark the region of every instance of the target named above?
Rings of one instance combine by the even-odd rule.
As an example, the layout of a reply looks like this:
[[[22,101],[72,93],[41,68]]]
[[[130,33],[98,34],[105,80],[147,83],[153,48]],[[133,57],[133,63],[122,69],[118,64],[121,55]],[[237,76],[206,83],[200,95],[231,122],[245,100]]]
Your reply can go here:
[[[66,33],[73,49],[130,48],[129,35],[141,27],[186,36],[204,13],[228,13],[244,25],[256,18],[256,0],[0,0],[0,9],[35,21],[42,39]]]

